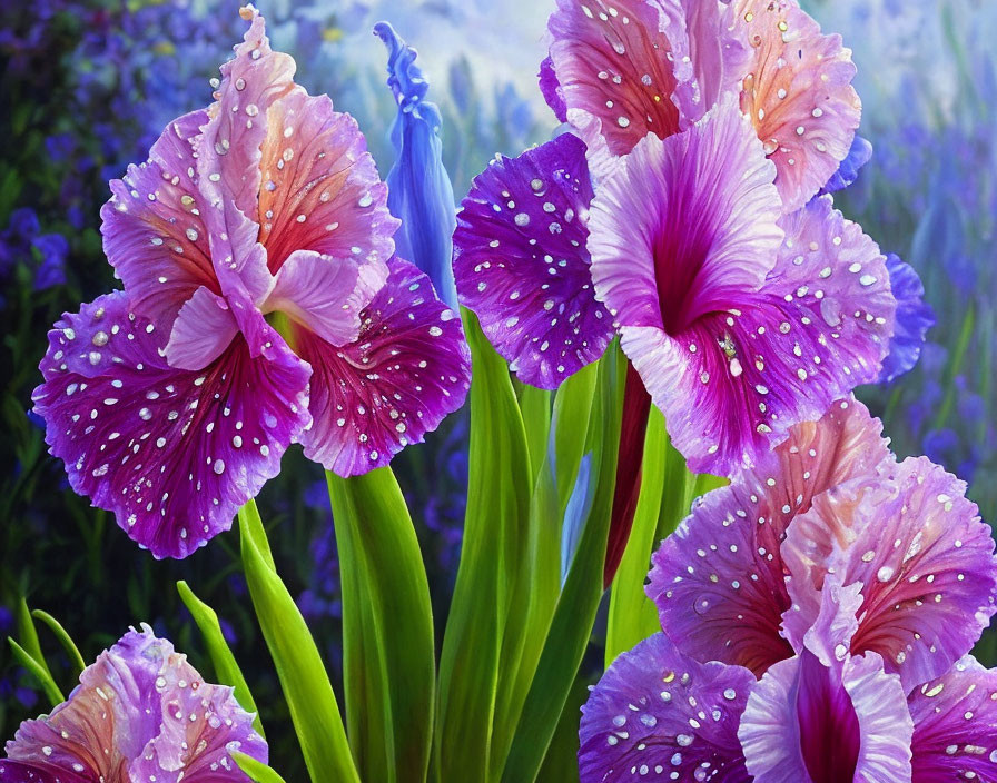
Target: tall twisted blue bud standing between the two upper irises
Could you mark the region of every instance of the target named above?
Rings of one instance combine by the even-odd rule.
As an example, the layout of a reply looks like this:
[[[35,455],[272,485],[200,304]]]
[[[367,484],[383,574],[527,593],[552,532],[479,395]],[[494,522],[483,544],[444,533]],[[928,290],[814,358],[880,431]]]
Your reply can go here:
[[[387,207],[402,221],[395,247],[430,276],[436,295],[456,308],[451,267],[456,208],[441,158],[440,110],[424,100],[430,83],[415,65],[417,52],[387,22],[375,24],[374,34],[387,47],[387,85],[398,105],[391,132],[397,158],[387,175]]]

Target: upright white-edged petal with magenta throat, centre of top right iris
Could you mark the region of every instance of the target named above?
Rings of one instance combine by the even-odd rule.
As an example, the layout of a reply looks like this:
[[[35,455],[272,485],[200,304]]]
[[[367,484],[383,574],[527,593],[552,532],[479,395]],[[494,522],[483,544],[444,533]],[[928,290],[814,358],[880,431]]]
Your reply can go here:
[[[762,285],[783,237],[773,176],[727,100],[684,133],[644,137],[600,184],[589,222],[592,278],[624,334],[679,334]],[[644,381],[653,395],[659,384]]]

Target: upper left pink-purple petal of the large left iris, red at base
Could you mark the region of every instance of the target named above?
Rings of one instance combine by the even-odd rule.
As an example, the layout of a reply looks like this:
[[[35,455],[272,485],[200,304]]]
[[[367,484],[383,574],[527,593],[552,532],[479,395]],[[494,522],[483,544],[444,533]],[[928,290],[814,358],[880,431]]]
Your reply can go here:
[[[194,111],[172,122],[149,159],[110,182],[100,210],[103,250],[138,313],[169,329],[197,288],[220,293],[198,189],[194,139],[208,121]]]

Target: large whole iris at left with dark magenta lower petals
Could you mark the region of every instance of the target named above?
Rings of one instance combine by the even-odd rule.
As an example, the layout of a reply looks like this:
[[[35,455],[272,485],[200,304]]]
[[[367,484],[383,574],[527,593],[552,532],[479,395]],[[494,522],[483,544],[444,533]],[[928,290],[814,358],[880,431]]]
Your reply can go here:
[[[386,465],[463,403],[460,320],[393,255],[363,135],[293,81],[264,20],[216,101],[111,182],[124,283],[49,334],[33,395],[70,484],[157,557],[185,557],[290,443],[340,476]]]

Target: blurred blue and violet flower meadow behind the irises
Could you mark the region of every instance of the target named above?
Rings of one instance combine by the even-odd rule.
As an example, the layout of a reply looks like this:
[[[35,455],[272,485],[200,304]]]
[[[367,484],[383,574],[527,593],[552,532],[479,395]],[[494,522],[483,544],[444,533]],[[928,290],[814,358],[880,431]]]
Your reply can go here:
[[[898,454],[927,454],[970,485],[997,522],[997,3],[993,0],[809,0],[826,30],[855,52],[860,132],[875,148],[838,198],[884,252],[920,274],[937,316],[919,365],[861,396],[884,417]],[[382,174],[393,162],[396,112],[386,53],[372,36],[386,19],[419,51],[428,98],[443,115],[444,162],[457,200],[496,152],[515,155],[556,123],[535,89],[551,0],[274,0],[260,3],[275,48],[294,54],[298,82],[328,92],[359,121]],[[91,656],[147,621],[210,671],[172,585],[213,604],[257,702],[277,683],[238,567],[235,536],[181,563],[140,556],[103,512],[70,492],[27,414],[46,330],[63,309],[112,286],[99,235],[107,180],[146,151],[171,118],[204,106],[208,79],[239,39],[236,0],[10,0],[0,6],[0,636],[27,595]],[[466,417],[451,417],[395,462],[443,617],[456,572],[466,474]],[[282,575],[326,651],[339,656],[338,573],[319,468],[299,452],[260,498]],[[978,653],[997,663],[997,638]],[[47,642],[43,640],[43,643]],[[56,644],[47,645],[59,662]],[[63,685],[68,677],[63,671]],[[58,676],[58,675],[57,675]],[[0,646],[0,737],[43,710],[29,676]],[[282,706],[272,707],[280,710]],[[265,712],[267,707],[264,707]],[[279,713],[270,726],[286,725]],[[287,727],[272,732],[290,759]],[[294,762],[282,764],[296,779]]]

